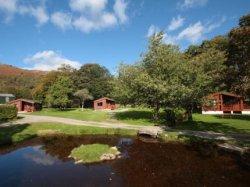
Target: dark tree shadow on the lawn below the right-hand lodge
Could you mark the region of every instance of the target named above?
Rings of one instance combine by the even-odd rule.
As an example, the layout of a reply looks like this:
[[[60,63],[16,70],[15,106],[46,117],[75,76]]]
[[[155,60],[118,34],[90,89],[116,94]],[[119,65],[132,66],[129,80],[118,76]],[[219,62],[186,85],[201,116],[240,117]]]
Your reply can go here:
[[[239,129],[228,126],[225,123],[204,122],[204,121],[186,121],[174,127],[177,130],[193,130],[193,131],[214,131],[221,133],[249,133],[249,129]]]

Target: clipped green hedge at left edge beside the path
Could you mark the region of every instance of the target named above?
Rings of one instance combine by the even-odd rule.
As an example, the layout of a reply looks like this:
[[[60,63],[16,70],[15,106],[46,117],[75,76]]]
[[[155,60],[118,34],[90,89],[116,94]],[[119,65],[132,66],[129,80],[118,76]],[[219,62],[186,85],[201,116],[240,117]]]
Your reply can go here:
[[[0,105],[0,121],[6,121],[17,117],[15,105]]]

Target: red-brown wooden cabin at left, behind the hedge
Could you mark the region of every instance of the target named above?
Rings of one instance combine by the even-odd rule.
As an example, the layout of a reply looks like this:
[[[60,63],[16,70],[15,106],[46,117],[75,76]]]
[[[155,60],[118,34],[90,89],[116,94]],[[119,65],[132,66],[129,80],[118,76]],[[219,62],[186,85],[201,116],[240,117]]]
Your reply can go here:
[[[9,104],[16,105],[18,112],[34,112],[42,109],[40,103],[28,99],[13,100]]]

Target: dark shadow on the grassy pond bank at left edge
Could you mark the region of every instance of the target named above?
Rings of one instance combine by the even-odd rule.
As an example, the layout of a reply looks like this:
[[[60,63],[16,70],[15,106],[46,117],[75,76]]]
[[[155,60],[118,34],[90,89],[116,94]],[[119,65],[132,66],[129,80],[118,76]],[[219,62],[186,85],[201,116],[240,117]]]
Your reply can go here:
[[[23,125],[15,125],[10,127],[0,127],[0,146],[2,145],[10,145],[13,143],[13,136],[21,133],[23,130],[25,130],[29,124],[23,124]],[[30,139],[34,138],[34,134],[20,134],[18,135],[18,139],[24,140],[24,139]]]

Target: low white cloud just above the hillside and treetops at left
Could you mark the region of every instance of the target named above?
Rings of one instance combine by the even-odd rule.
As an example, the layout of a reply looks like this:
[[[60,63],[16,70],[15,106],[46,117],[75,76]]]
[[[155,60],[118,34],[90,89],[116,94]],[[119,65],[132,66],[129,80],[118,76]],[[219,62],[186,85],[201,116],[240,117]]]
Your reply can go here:
[[[69,60],[52,50],[38,52],[33,56],[25,58],[24,62],[32,65],[32,67],[28,69],[43,71],[56,70],[63,64],[70,65],[74,68],[80,68],[81,66],[80,62]]]

